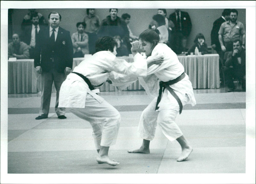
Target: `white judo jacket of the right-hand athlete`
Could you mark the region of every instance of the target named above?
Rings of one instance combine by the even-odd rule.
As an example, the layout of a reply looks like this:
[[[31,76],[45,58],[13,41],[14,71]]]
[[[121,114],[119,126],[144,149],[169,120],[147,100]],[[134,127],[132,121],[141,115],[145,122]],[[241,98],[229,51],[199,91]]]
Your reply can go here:
[[[139,80],[140,85],[145,89],[148,95],[157,97],[159,91],[159,82],[167,82],[179,77],[184,72],[184,67],[178,60],[177,55],[164,43],[158,43],[152,51],[153,55],[163,55],[164,62],[161,65],[153,64],[147,70],[147,77],[131,77],[127,75],[117,74],[111,72],[109,79],[112,84],[119,90],[123,90],[131,83]],[[150,57],[150,56],[149,56]],[[134,56],[134,62],[147,60],[145,55],[137,53]],[[196,105],[196,99],[193,92],[193,87],[189,81],[188,75],[176,84],[170,85],[173,91],[178,95],[183,105],[188,102],[192,106]],[[189,101],[187,100],[189,98]],[[172,96],[168,90],[164,90],[162,99],[159,103],[159,109],[174,109],[179,111],[179,105],[177,100]]]

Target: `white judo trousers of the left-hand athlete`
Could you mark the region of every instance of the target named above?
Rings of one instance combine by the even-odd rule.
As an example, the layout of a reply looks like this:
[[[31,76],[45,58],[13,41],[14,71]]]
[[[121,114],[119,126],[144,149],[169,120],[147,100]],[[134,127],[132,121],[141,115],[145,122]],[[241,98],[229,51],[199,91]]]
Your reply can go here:
[[[101,103],[87,93],[84,108],[67,108],[79,118],[89,121],[97,150],[100,146],[109,147],[116,144],[120,126],[120,113],[115,107],[103,100]]]

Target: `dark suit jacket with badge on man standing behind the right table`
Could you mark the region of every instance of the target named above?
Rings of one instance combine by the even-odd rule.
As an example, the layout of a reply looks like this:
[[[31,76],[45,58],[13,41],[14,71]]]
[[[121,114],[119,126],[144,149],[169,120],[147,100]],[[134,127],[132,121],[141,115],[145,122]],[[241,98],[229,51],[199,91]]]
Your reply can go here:
[[[175,12],[169,16],[169,20],[172,20],[173,24],[175,25],[176,31],[178,31],[178,23],[177,23]],[[192,29],[192,23],[188,15],[188,12],[180,11],[180,21],[181,21],[181,33],[184,36],[188,37]]]

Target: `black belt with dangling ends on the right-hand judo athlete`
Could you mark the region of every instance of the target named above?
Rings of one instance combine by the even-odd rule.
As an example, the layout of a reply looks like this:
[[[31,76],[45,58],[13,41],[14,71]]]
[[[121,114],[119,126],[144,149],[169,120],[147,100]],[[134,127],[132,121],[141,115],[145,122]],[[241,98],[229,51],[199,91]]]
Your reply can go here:
[[[186,74],[185,74],[185,72],[183,72],[179,77],[177,77],[173,80],[170,80],[170,81],[167,81],[167,82],[160,81],[160,83],[159,83],[160,89],[159,89],[159,94],[158,94],[157,101],[156,101],[156,109],[155,110],[159,109],[158,104],[161,101],[162,93],[164,92],[164,89],[167,88],[168,91],[172,94],[172,96],[177,100],[177,102],[180,106],[180,114],[181,114],[182,107],[183,107],[182,103],[180,101],[180,98],[173,91],[173,89],[170,87],[170,85],[173,85],[173,84],[181,81],[185,76],[186,76]]]

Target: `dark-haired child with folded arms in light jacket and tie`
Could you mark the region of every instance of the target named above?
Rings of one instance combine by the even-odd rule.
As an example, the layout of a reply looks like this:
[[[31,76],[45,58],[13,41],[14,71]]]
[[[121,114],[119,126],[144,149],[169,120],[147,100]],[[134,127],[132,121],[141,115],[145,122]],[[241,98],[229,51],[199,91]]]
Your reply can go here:
[[[77,32],[71,36],[74,50],[73,57],[84,57],[85,54],[89,54],[88,35],[84,33],[86,24],[84,22],[77,22],[76,27]]]

